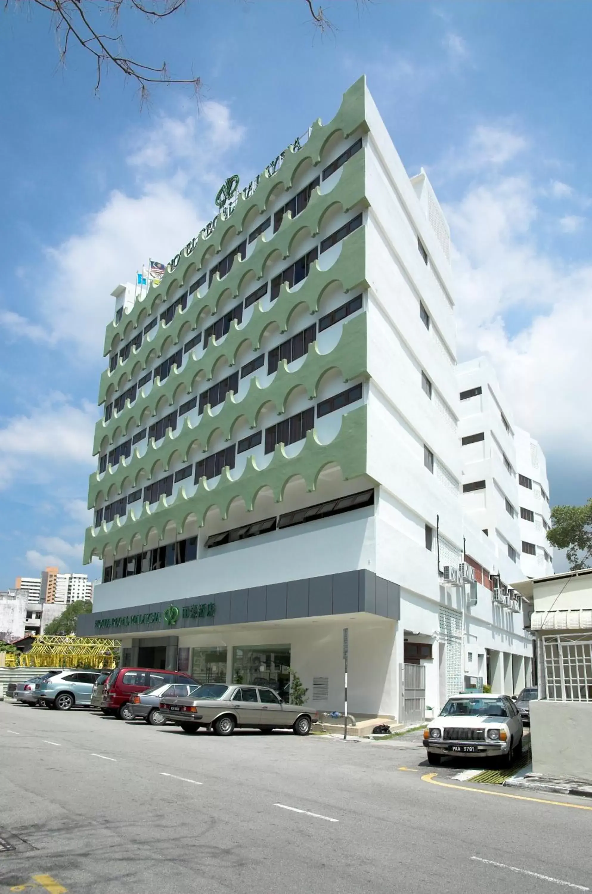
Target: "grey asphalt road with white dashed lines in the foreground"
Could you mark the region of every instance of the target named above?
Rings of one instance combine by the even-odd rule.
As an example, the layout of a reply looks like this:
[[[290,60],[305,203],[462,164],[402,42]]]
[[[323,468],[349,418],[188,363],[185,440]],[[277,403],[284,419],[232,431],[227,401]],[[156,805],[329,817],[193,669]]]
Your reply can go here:
[[[0,703],[0,826],[0,892],[592,890],[590,801],[457,782],[417,735],[188,736]]]

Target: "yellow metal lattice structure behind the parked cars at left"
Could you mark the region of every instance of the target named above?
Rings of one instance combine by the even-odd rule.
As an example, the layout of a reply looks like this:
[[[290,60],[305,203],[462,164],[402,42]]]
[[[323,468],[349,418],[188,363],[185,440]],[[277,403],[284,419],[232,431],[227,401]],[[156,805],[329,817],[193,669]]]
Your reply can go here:
[[[120,646],[118,639],[103,637],[35,637],[30,652],[6,654],[6,667],[114,668]]]

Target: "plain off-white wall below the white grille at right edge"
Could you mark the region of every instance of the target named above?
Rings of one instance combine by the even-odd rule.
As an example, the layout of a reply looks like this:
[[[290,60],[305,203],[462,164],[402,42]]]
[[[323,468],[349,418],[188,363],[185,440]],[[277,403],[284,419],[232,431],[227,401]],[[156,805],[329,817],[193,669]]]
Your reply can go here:
[[[592,781],[592,704],[530,702],[533,772]]]

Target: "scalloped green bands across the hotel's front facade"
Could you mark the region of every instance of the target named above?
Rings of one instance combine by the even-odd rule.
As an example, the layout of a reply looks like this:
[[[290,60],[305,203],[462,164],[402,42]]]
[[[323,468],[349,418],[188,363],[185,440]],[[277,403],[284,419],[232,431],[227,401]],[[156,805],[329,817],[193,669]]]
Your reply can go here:
[[[271,176],[264,173],[257,189],[249,198],[239,197],[232,214],[226,220],[218,218],[213,232],[207,239],[194,240],[193,247],[190,243],[183,249],[175,258],[173,269],[165,274],[158,287],[151,286],[146,297],[136,300],[131,312],[123,314],[123,319],[117,325],[111,322],[107,326],[106,354],[115,346],[117,336],[120,339],[118,347],[121,347],[140,331],[139,327],[156,312],[162,302],[172,297],[173,293],[183,285],[190,283],[199,274],[202,266],[210,265],[215,252],[222,250],[224,254],[225,247],[234,244],[234,237],[241,236],[245,222],[252,217],[253,208],[257,207],[259,212],[264,213],[272,192],[277,195],[280,184],[284,190],[290,190],[302,164],[309,162],[318,165],[317,171],[320,173],[320,158],[329,139],[340,131],[346,139],[355,131],[360,133],[367,131],[365,97],[365,80],[360,79],[344,94],[342,105],[331,122],[326,125],[315,122],[309,140],[300,151],[293,152],[292,148],[289,148],[279,170]],[[314,171],[314,167],[311,171]],[[363,149],[345,163],[341,177],[333,190],[326,195],[321,195],[318,189],[314,190],[308,207],[300,215],[293,220],[291,215],[284,215],[278,232],[271,235],[271,230],[268,230],[258,236],[255,249],[249,257],[244,261],[236,257],[231,271],[224,280],[220,281],[216,274],[204,298],[199,298],[195,292],[185,311],[177,310],[169,325],[159,321],[152,333],[151,341],[144,339],[139,350],[132,349],[125,362],[118,361],[113,373],[106,370],[101,375],[99,404],[111,401],[120,390],[125,390],[132,379],[141,375],[142,370],[160,362],[157,358],[164,359],[170,356],[179,344],[187,341],[190,331],[199,331],[203,327],[203,314],[206,308],[212,315],[207,317],[208,321],[215,319],[216,310],[223,299],[238,299],[240,293],[244,294],[244,283],[247,278],[252,283],[249,285],[249,291],[257,289],[258,284],[265,281],[265,269],[270,258],[273,255],[279,257],[278,252],[283,258],[290,257],[292,245],[298,234],[304,230],[312,236],[317,235],[327,211],[335,206],[341,207],[344,211],[348,211],[351,207],[368,206]],[[297,291],[292,292],[283,284],[279,297],[270,308],[263,310],[258,302],[254,306],[249,322],[239,328],[234,321],[231,331],[224,336],[220,345],[216,345],[216,340],[212,338],[202,358],[195,359],[193,352],[190,352],[181,371],[174,368],[162,384],[155,379],[147,396],[144,396],[143,390],[140,389],[133,406],[130,406],[128,401],[116,417],[112,417],[108,422],[99,420],[95,431],[94,453],[108,451],[114,442],[119,443],[125,439],[133,426],[140,423],[140,418],[145,415],[147,409],[151,417],[155,417],[156,409],[158,417],[161,417],[169,407],[178,406],[186,399],[185,395],[191,393],[197,377],[203,378],[205,375],[206,380],[212,378],[216,364],[221,358],[226,359],[230,372],[233,372],[241,345],[250,342],[253,350],[258,350],[263,335],[270,325],[277,325],[281,332],[286,332],[297,308],[306,305],[311,314],[316,314],[319,301],[332,284],[341,283],[343,291],[351,297],[368,288],[366,275],[366,229],[361,227],[343,240],[339,257],[328,270],[319,269],[318,263],[314,262],[307,279]],[[331,369],[338,369],[346,382],[355,376],[367,376],[366,323],[366,314],[346,320],[343,323],[341,338],[334,350],[327,354],[319,354],[317,342],[314,342],[309,346],[308,356],[297,371],[288,372],[285,361],[282,361],[274,380],[266,388],[259,386],[257,375],[254,375],[249,383],[249,391],[241,401],[235,401],[233,394],[229,393],[226,395],[223,408],[221,410],[216,408],[216,415],[206,408],[195,426],[190,426],[189,417],[183,417],[182,425],[178,426],[174,434],[168,431],[157,447],[151,440],[143,456],[140,457],[139,451],[135,449],[128,460],[120,460],[115,468],[108,466],[103,476],[99,477],[98,473],[93,473],[89,480],[89,508],[96,505],[99,496],[103,497],[104,502],[113,502],[124,487],[133,488],[140,480],[142,485],[145,485],[146,477],[151,476],[156,463],[159,464],[158,468],[161,468],[162,463],[164,471],[160,474],[165,474],[174,458],[180,455],[182,461],[187,459],[192,446],[197,444],[202,451],[207,451],[215,432],[222,431],[224,439],[230,440],[233,437],[233,429],[241,418],[246,417],[249,426],[255,428],[258,415],[265,404],[271,403],[278,414],[283,413],[286,401],[295,388],[304,387],[309,399],[314,399],[318,384]],[[207,387],[207,382],[204,382],[204,386]],[[287,457],[283,445],[278,444],[273,459],[261,471],[256,467],[253,458],[249,457],[246,468],[234,481],[225,468],[216,486],[211,489],[202,479],[193,495],[186,497],[181,487],[174,500],[169,498],[169,505],[166,505],[165,497],[161,497],[160,502],[151,507],[148,503],[138,503],[136,508],[132,505],[127,519],[120,522],[120,519],[115,518],[109,530],[105,522],[96,531],[92,527],[87,529],[84,560],[90,561],[92,555],[101,557],[107,545],[115,550],[123,542],[129,548],[134,536],[140,536],[142,544],[146,544],[151,530],[156,529],[158,535],[163,536],[169,522],[174,522],[179,534],[182,534],[189,517],[197,518],[201,525],[207,510],[212,507],[217,507],[225,518],[230,504],[238,498],[244,501],[248,511],[252,510],[257,493],[263,487],[271,488],[276,502],[280,502],[285,485],[292,477],[302,477],[308,489],[314,490],[318,475],[328,464],[336,463],[341,468],[344,478],[365,474],[366,418],[366,406],[346,413],[339,433],[326,445],[318,442],[316,431],[313,429],[309,432],[306,443],[298,455],[292,458]],[[248,519],[245,523],[248,523]]]

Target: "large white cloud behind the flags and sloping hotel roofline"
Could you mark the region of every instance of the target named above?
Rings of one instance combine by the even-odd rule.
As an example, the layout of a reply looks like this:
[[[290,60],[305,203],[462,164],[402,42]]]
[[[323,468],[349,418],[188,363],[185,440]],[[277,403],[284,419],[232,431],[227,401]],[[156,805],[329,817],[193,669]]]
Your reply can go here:
[[[207,102],[199,114],[161,117],[131,134],[123,159],[135,186],[113,190],[103,207],[78,222],[58,245],[36,259],[33,321],[4,311],[7,332],[35,341],[65,342],[74,357],[100,366],[111,291],[133,282],[148,257],[166,262],[199,232],[212,212],[212,187],[224,180],[224,157],[243,138],[228,108]],[[141,148],[136,149],[135,147]]]

